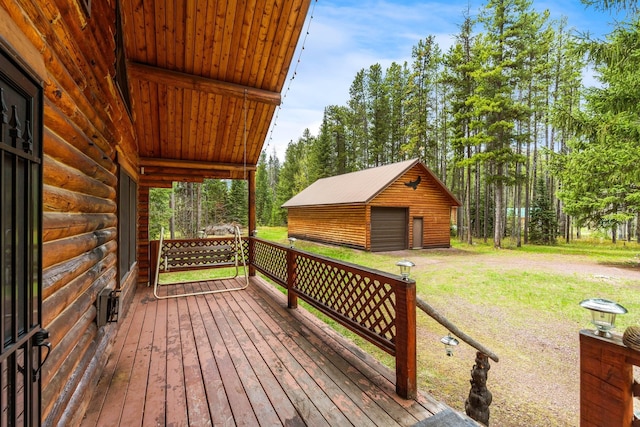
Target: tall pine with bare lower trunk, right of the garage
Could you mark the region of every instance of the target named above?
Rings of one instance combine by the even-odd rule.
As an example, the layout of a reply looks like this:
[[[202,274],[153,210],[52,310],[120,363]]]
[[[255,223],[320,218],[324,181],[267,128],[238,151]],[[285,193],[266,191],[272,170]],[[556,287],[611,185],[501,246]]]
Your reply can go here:
[[[484,151],[475,157],[489,165],[486,179],[493,187],[495,247],[501,247],[505,232],[505,190],[514,183],[509,169],[522,160],[512,144],[518,138],[516,122],[527,114],[515,88],[521,84],[524,56],[520,38],[530,8],[528,0],[489,0],[479,17],[485,28],[476,53],[482,68],[474,73],[477,86],[469,102],[477,117],[472,127],[484,142]]]

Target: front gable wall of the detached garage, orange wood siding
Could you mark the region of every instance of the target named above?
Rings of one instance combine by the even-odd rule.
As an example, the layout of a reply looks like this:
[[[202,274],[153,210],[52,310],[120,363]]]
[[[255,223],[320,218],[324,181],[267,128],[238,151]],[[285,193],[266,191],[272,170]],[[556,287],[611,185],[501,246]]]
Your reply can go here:
[[[421,178],[414,190],[406,182]],[[448,248],[451,246],[450,223],[452,201],[429,174],[424,173],[420,165],[409,169],[389,187],[377,195],[371,206],[408,207],[409,208],[409,247],[413,247],[413,218],[422,218],[422,247]]]

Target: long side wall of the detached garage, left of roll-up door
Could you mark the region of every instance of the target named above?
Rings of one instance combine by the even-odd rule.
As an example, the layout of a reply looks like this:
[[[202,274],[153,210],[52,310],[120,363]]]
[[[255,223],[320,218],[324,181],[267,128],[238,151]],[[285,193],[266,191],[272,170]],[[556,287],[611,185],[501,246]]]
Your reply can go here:
[[[365,249],[365,210],[364,205],[289,208],[289,236]]]

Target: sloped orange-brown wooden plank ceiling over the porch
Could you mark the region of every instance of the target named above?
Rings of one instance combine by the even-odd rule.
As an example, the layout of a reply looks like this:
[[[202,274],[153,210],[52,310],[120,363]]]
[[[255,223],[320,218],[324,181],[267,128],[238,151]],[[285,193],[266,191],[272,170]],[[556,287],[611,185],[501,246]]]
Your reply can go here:
[[[309,4],[121,2],[143,184],[255,168]]]

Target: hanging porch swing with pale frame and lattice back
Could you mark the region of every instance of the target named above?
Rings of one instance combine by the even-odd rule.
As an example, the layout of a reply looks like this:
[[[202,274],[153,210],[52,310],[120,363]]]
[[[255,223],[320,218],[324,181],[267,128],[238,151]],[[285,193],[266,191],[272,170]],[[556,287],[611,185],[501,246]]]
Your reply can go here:
[[[243,129],[243,172],[244,179],[247,179],[247,90],[244,91],[244,100],[242,104],[242,112],[244,119]],[[164,227],[160,232],[160,244],[158,246],[158,257],[156,261],[156,271],[153,284],[153,295],[157,299],[179,298],[194,295],[217,294],[222,292],[241,291],[249,286],[249,275],[247,273],[247,261],[245,250],[242,245],[242,236],[240,227],[237,225],[233,228],[233,240],[229,245],[217,244],[218,242],[210,239],[192,240],[188,245],[174,246],[172,248],[164,248]],[[164,256],[164,258],[163,258]],[[158,295],[158,284],[160,275],[160,264],[164,261],[164,272],[170,270],[171,265],[179,266],[180,270],[187,269],[203,269],[203,268],[220,268],[235,267],[235,275],[229,277],[215,278],[209,281],[222,281],[236,279],[240,271],[240,260],[242,261],[242,271],[244,276],[244,285],[225,289],[212,289],[207,291],[185,292],[173,295]],[[166,285],[165,285],[166,286]]]

